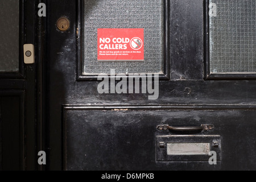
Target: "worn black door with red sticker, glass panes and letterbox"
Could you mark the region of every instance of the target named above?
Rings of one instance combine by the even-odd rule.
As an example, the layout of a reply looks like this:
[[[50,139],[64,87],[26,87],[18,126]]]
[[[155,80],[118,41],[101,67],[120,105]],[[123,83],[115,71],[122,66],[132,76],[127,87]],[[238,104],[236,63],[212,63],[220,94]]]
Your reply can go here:
[[[256,169],[255,1],[46,6],[47,169]]]

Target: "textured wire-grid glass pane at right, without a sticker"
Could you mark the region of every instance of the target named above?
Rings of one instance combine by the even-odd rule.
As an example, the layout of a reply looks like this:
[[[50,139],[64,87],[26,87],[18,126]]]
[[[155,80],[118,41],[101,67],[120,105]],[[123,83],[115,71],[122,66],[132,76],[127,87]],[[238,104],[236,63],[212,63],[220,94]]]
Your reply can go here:
[[[210,0],[210,72],[256,72],[255,2]]]

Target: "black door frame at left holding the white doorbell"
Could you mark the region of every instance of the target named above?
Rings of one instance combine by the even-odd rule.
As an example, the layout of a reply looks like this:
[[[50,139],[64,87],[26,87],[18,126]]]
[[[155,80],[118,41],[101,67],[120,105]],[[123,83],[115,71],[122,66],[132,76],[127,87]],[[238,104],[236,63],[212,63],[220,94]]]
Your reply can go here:
[[[22,154],[20,154],[19,169],[29,171],[43,169],[43,166],[38,165],[37,161],[38,151],[44,150],[43,60],[45,55],[45,18],[38,16],[38,4],[42,2],[44,1],[19,1],[19,72],[0,73],[0,96],[18,96],[20,98],[19,127]],[[24,64],[23,44],[35,45],[35,64]],[[4,158],[5,156],[0,157]],[[2,169],[5,169],[4,166],[2,166]]]

